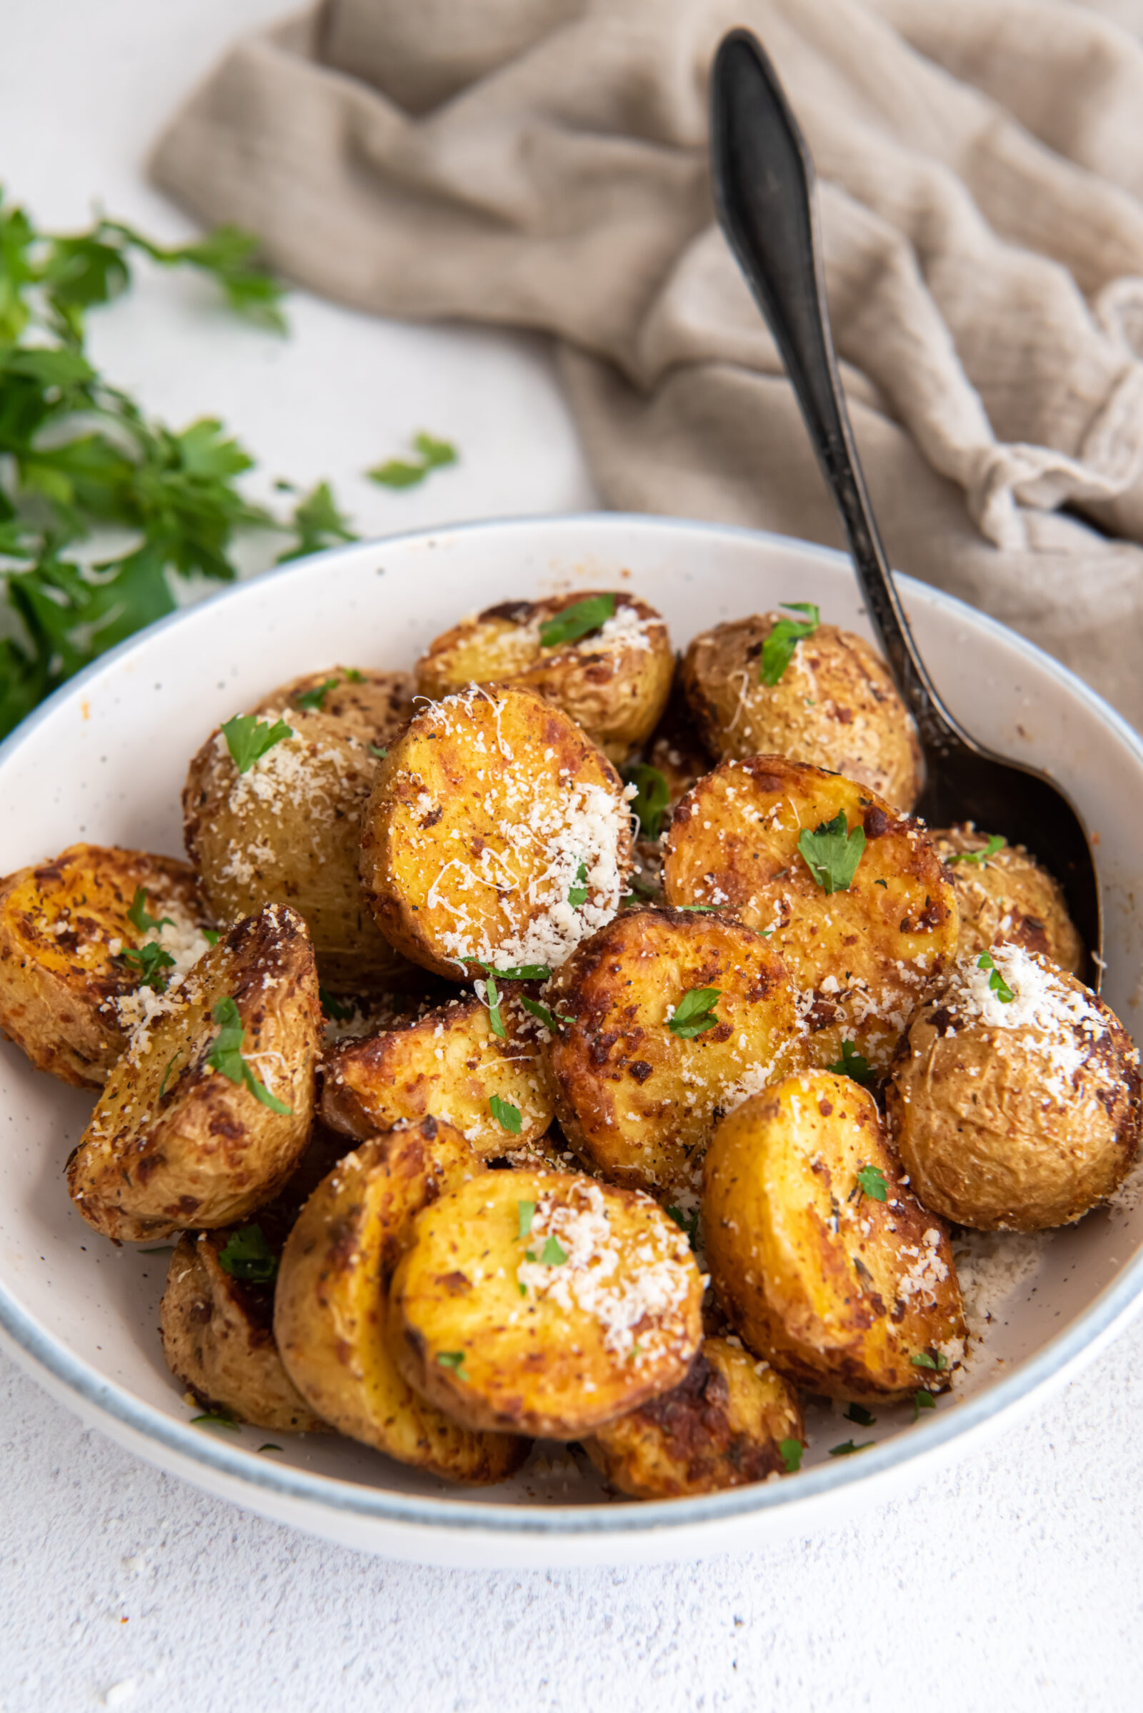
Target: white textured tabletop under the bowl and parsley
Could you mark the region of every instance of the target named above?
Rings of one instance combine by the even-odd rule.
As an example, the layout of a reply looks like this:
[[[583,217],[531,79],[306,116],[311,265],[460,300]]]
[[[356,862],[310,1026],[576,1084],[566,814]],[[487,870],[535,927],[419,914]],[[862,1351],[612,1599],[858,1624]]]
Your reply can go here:
[[[414,0],[416,3],[416,0]],[[281,0],[3,7],[0,176],[46,224],[99,200],[187,231],[142,178],[166,111]],[[330,476],[363,533],[592,504],[539,341],[370,322],[296,295],[293,337],[193,283],[98,319],[108,372],[222,415],[267,476]],[[364,483],[426,427],[462,464]],[[828,1537],[660,1569],[394,1566],[264,1523],[86,1432],[0,1358],[0,1713],[602,1713],[1143,1704],[1143,1326],[991,1449]]]

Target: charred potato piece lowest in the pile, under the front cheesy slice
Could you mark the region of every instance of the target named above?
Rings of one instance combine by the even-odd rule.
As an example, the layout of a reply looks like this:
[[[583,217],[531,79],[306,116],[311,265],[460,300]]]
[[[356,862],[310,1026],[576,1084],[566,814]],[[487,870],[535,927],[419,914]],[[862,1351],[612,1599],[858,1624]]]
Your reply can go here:
[[[784,1439],[806,1441],[797,1394],[725,1338],[703,1338],[686,1379],[583,1441],[631,1499],[684,1499],[785,1475]]]

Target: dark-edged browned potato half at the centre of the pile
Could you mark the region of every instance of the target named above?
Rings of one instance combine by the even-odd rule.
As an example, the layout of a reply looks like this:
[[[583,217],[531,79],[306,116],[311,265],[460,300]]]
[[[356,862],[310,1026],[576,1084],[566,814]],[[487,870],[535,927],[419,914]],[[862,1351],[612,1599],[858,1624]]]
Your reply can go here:
[[[703,990],[717,992],[712,1007],[688,997]],[[607,1179],[655,1192],[695,1189],[720,1113],[802,1062],[791,1057],[785,964],[717,913],[618,916],[563,964],[544,1004],[558,1019],[548,1064],[565,1136]]]

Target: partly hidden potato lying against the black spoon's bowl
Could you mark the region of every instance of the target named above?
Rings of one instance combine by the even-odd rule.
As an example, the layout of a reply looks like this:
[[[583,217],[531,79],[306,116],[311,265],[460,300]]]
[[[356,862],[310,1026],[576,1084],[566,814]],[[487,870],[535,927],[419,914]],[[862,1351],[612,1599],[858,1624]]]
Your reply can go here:
[[[987,850],[986,834],[972,827],[948,827],[929,833],[929,838],[953,877],[960,915],[958,958],[1011,944],[1042,952],[1071,975],[1081,973],[1083,940],[1068,915],[1063,889],[1023,845],[1001,845],[979,863],[950,862],[950,856]]]

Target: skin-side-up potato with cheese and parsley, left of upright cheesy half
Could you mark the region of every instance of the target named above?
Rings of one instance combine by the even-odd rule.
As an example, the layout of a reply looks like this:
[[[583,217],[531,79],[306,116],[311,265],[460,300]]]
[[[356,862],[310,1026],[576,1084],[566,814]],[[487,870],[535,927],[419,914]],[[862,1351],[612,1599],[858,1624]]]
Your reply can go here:
[[[332,716],[287,713],[265,711],[264,735],[279,721],[286,735],[245,773],[226,731],[210,733],[183,786],[187,853],[219,922],[291,904],[306,918],[323,987],[383,988],[407,966],[378,934],[358,879],[376,757]]]

